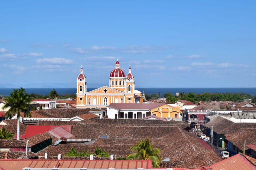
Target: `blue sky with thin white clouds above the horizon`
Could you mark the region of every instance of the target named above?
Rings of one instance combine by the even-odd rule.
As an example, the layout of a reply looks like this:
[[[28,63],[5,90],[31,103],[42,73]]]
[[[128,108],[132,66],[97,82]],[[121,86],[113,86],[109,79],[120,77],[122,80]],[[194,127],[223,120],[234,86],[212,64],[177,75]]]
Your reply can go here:
[[[255,87],[256,1],[3,1],[0,87]]]

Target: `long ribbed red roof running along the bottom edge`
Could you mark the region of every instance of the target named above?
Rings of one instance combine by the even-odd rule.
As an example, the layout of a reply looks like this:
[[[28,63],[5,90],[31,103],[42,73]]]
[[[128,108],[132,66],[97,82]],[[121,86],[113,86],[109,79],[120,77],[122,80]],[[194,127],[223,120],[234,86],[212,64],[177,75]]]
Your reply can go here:
[[[29,168],[81,168],[90,169],[137,169],[151,168],[151,160],[0,160],[3,169]]]

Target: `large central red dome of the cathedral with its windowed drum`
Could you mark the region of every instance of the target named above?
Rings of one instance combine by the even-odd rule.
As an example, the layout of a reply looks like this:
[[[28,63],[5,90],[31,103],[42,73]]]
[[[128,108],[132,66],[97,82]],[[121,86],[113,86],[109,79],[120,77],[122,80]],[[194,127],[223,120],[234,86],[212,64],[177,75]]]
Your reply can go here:
[[[116,68],[110,72],[109,87],[124,92],[125,90],[125,73],[120,69],[120,63],[116,61]]]

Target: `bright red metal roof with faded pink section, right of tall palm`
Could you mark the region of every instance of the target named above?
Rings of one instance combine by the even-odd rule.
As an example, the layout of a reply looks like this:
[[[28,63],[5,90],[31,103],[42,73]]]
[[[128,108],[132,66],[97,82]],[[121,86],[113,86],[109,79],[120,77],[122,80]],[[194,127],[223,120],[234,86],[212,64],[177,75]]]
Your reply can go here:
[[[28,138],[34,135],[37,135],[39,133],[43,134],[53,128],[56,127],[62,127],[65,130],[67,130],[68,132],[71,132],[71,125],[61,125],[61,126],[38,126],[38,125],[28,125],[23,138]]]

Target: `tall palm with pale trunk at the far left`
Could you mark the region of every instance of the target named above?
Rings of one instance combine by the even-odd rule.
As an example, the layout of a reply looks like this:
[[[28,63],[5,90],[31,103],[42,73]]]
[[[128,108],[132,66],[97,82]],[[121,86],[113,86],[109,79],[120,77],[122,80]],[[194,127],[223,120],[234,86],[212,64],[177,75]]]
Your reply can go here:
[[[15,115],[17,115],[17,140],[20,139],[20,113],[24,113],[24,117],[31,118],[30,109],[32,106],[30,103],[32,99],[30,99],[29,95],[26,93],[25,89],[14,89],[11,92],[9,97],[5,98],[6,104],[3,106],[3,110],[9,108],[9,110],[5,113],[5,118],[11,119]]]

